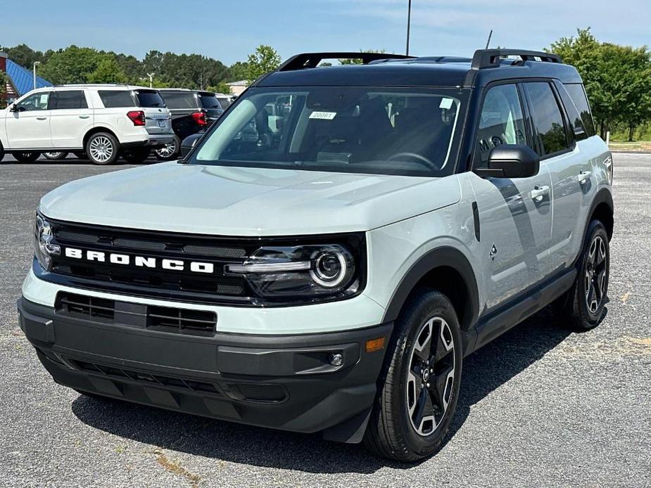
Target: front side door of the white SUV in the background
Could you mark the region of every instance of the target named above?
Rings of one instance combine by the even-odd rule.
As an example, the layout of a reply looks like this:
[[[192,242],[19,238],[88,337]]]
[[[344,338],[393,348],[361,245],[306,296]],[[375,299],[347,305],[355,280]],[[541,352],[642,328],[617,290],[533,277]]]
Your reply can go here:
[[[7,114],[7,142],[11,149],[52,148],[51,94],[51,91],[38,91],[16,103],[15,111]]]

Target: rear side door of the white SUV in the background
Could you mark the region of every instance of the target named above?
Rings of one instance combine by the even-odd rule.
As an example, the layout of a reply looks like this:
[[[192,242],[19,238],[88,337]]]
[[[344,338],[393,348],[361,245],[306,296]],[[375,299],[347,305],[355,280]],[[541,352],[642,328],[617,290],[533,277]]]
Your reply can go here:
[[[58,90],[50,101],[50,129],[54,148],[82,148],[84,135],[93,128],[94,115],[86,92]]]

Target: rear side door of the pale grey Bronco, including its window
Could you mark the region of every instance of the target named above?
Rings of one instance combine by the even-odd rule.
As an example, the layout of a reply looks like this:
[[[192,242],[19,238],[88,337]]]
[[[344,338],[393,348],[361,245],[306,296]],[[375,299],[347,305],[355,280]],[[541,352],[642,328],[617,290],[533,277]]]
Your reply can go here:
[[[553,83],[529,82],[522,85],[531,110],[535,127],[536,151],[541,155],[552,179],[554,217],[550,241],[550,267],[547,272],[569,266],[574,261],[576,245],[581,241],[585,222],[581,204],[586,180],[579,182],[579,175],[589,162],[581,144],[577,144],[570,130],[569,120],[563,110],[560,92]],[[576,114],[578,117],[578,114]],[[583,131],[583,135],[585,132]],[[577,235],[579,234],[579,235]],[[580,246],[580,244],[579,244]]]

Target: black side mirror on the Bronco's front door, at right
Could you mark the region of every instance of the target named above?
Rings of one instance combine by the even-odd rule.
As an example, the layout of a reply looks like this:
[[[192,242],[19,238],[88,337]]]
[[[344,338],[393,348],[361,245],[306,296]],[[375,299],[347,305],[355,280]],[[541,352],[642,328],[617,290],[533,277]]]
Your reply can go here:
[[[482,178],[530,178],[541,167],[541,158],[529,146],[503,144],[488,154],[488,167],[473,171]]]

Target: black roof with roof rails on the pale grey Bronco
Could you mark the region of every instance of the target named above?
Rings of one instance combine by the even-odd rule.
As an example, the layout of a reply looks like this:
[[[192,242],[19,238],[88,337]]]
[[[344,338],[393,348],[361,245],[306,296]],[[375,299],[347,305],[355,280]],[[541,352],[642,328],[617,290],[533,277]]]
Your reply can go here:
[[[510,57],[505,57],[510,56]],[[512,57],[516,56],[516,58]],[[315,68],[320,60],[362,58],[363,64]],[[500,79],[555,78],[581,83],[560,57],[536,51],[481,49],[473,58],[408,57],[378,53],[303,53],[255,86],[484,86]]]

